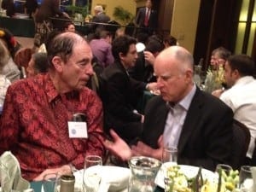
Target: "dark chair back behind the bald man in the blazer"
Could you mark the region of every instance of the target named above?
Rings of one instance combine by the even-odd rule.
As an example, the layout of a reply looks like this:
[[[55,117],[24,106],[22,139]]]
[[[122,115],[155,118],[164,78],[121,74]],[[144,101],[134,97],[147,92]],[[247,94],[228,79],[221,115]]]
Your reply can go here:
[[[245,165],[250,139],[251,134],[247,126],[234,119],[231,152],[231,166],[234,170],[239,170],[241,166]]]

